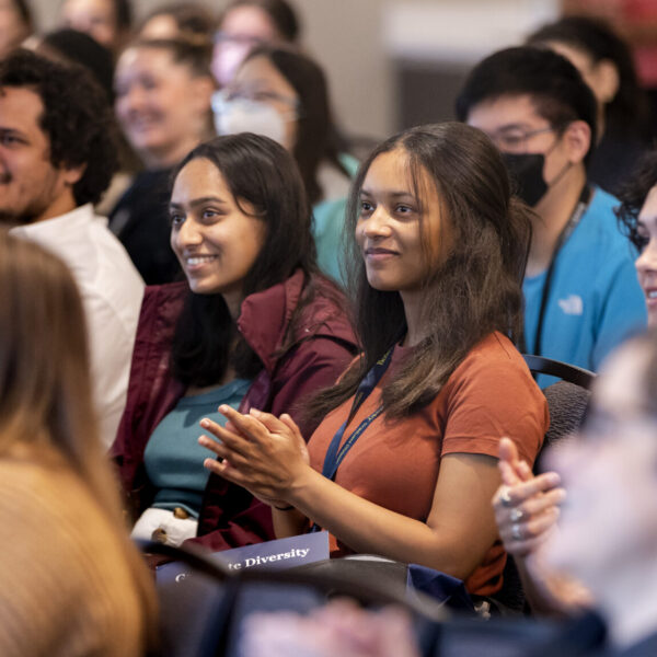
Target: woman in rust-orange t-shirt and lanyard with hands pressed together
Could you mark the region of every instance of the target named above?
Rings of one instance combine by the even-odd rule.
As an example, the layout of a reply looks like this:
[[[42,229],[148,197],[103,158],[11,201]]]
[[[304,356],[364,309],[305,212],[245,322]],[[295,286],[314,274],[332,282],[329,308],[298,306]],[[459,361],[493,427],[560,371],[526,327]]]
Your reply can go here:
[[[220,407],[204,419],[206,466],[273,507],[277,535],[328,530],[335,554],[376,553],[502,586],[491,498],[510,437],[533,462],[545,399],[511,342],[521,326],[530,237],[491,141],[463,124],[419,126],[380,145],[354,183],[351,289],[361,357],[291,418]]]

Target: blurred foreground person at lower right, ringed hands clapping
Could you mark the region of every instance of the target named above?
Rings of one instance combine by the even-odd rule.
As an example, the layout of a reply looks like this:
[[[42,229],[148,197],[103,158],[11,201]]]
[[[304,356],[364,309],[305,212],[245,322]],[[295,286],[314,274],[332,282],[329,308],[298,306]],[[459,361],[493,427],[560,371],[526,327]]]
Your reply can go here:
[[[500,446],[505,484],[494,506],[528,598],[543,613],[595,608],[608,629],[606,657],[657,650],[656,371],[654,328],[610,356],[580,434],[548,459],[556,472],[533,477],[510,442]],[[575,627],[581,634],[592,622]]]

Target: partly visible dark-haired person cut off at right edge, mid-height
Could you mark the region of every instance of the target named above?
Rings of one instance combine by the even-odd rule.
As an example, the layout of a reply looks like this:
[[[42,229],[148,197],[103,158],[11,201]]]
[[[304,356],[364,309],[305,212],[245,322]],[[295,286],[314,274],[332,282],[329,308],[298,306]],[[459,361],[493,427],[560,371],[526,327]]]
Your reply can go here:
[[[639,253],[634,265],[646,297],[648,325],[657,326],[657,149],[638,161],[619,198],[616,215]]]

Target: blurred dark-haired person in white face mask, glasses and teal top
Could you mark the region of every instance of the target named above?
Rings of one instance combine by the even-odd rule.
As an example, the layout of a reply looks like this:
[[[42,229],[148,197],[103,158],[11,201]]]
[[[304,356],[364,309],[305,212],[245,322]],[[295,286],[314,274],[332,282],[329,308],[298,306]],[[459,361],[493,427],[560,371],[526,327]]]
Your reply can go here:
[[[255,48],[233,82],[215,93],[212,111],[219,135],[264,135],[292,153],[313,206],[320,269],[344,280],[341,240],[358,163],[341,152],[322,69],[292,49]]]

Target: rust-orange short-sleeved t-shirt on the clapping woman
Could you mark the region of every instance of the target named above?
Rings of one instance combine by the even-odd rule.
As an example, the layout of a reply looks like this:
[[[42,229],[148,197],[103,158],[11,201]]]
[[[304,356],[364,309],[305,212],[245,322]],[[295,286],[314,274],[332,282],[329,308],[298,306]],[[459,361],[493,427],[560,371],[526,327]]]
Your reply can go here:
[[[408,351],[394,348],[388,371],[347,426],[343,443],[379,407],[382,387]],[[309,441],[310,462],[319,472],[351,402],[332,411]],[[507,337],[493,333],[470,350],[430,404],[403,419],[390,420],[384,414],[376,417],[346,454],[335,482],[374,504],[426,522],[445,454],[497,458],[499,439],[508,436],[531,465],[549,424],[548,403],[522,356]],[[353,552],[334,537],[331,548],[332,556]],[[468,590],[482,596],[498,590],[505,562],[497,540],[465,581]]]

